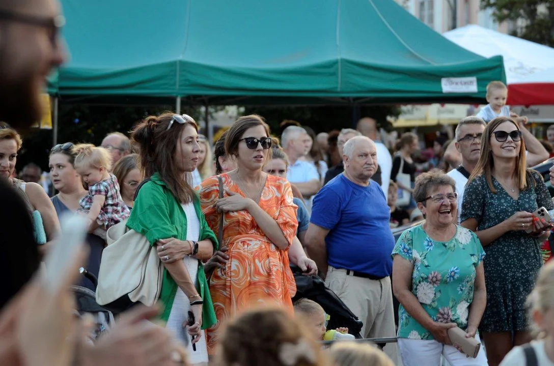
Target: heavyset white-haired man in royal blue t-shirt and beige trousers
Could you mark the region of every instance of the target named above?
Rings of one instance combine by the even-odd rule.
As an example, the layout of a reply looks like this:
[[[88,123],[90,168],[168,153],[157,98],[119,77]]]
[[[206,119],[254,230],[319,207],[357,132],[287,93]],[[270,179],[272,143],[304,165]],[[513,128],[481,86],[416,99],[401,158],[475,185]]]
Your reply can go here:
[[[327,286],[363,322],[363,337],[394,337],[394,238],[381,186],[370,180],[377,170],[375,143],[353,137],[342,159],[345,171],[314,197],[306,248]]]

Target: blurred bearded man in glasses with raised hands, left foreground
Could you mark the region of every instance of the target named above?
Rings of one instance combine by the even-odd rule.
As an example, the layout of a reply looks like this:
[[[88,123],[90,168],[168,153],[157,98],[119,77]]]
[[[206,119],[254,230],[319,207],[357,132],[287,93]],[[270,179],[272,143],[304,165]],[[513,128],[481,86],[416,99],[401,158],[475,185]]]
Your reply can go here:
[[[55,0],[4,0],[0,3],[0,120],[20,130],[42,117],[40,92],[50,69],[64,61],[58,37],[63,24]],[[73,294],[84,258],[62,278],[55,294],[32,276],[39,267],[33,226],[22,199],[0,180],[0,364],[65,366],[74,359],[76,336]],[[13,245],[17,243],[17,245]],[[30,282],[30,283],[29,283]],[[8,304],[9,303],[9,304]],[[140,307],[105,342],[89,348],[83,365],[175,365],[175,344],[160,327],[142,320],[157,309]],[[142,328],[142,331],[139,331]],[[148,353],[148,354],[147,354]]]

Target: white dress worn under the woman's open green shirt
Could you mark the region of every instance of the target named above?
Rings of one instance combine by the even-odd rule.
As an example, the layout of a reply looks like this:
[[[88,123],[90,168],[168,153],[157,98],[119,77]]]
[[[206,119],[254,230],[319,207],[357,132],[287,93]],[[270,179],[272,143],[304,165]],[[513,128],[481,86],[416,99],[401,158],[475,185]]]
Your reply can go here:
[[[187,203],[181,205],[183,207],[184,214],[187,217],[187,236],[186,240],[198,241],[200,237],[200,220],[196,216],[193,203]],[[194,282],[194,286],[198,285],[198,259],[192,257],[184,257],[183,262],[187,267],[188,273],[191,275],[191,279]],[[191,302],[188,296],[184,294],[181,288],[177,287],[177,293],[175,294],[175,300],[173,300],[173,306],[171,307],[170,317],[167,320],[166,328],[178,339],[188,342],[188,358],[191,364],[207,363],[208,362],[208,348],[206,346],[205,333],[202,332],[200,340],[196,343],[196,351],[193,351],[191,344],[191,336],[189,336],[187,329],[183,328],[183,323],[188,319],[188,310],[190,309]]]

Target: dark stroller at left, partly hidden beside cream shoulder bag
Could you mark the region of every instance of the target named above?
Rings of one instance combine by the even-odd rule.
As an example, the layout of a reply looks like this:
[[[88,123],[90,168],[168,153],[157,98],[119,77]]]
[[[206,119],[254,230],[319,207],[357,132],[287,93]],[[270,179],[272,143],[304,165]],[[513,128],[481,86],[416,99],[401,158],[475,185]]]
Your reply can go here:
[[[98,279],[94,274],[89,273],[86,269],[81,268],[80,273],[88,278],[96,287],[98,285]],[[76,313],[79,316],[85,314],[92,315],[94,317],[95,328],[91,333],[91,339],[96,339],[102,333],[107,332],[114,326],[114,315],[111,311],[108,311],[96,303],[96,295],[90,289],[86,287],[72,285],[71,290],[75,294],[76,301]],[[77,315],[77,314],[76,314]]]

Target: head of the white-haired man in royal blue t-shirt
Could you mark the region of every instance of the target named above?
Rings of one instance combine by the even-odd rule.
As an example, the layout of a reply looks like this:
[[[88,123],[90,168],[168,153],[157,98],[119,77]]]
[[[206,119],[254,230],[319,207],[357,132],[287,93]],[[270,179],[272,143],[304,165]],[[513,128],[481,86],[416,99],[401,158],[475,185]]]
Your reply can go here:
[[[346,172],[361,181],[368,181],[377,170],[377,148],[369,139],[359,139],[352,157],[343,155]]]

